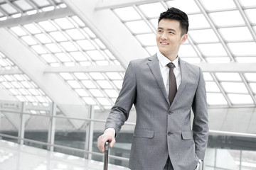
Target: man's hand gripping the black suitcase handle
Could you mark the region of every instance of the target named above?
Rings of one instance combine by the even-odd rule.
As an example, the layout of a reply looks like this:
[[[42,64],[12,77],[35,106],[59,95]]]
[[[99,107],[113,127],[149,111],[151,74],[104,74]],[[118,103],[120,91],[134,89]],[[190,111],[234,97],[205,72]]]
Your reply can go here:
[[[101,152],[105,152],[105,142],[110,141],[110,147],[114,146],[115,139],[114,139],[115,132],[113,129],[105,130],[103,135],[100,135],[97,139],[97,147],[100,149]]]

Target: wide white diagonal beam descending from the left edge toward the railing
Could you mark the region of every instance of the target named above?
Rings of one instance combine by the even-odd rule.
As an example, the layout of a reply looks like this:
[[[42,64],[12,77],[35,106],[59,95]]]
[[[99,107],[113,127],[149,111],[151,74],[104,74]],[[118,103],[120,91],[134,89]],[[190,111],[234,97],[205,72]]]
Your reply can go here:
[[[44,74],[44,64],[34,52],[26,47],[6,28],[0,28],[0,51],[6,55],[21,71],[38,85],[46,95],[57,104],[67,116],[87,118],[88,107],[57,74]],[[72,121],[71,121],[72,122]],[[83,123],[74,120],[75,128]]]

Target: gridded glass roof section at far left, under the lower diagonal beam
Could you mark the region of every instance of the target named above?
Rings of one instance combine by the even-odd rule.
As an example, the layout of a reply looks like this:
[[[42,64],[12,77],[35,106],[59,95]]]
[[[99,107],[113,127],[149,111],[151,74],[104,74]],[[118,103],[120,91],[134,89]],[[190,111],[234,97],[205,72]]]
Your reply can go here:
[[[0,52],[0,67],[2,70],[15,69],[21,72],[2,52]],[[50,98],[23,73],[1,74],[0,86],[10,92],[17,101],[32,103],[35,106],[49,106]]]

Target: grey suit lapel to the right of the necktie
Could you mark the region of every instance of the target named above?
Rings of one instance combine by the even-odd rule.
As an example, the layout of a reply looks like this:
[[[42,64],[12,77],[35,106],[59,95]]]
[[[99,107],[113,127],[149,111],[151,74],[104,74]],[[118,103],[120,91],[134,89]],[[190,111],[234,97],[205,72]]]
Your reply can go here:
[[[186,65],[186,62],[183,62],[183,60],[181,60],[181,58],[179,58],[178,62],[181,67],[181,84],[178,87],[177,94],[176,94],[171,106],[173,106],[176,103],[176,101],[178,101],[178,98],[181,96],[183,89],[185,89],[186,84],[187,84],[187,79],[188,79],[188,73],[189,73],[188,66]]]

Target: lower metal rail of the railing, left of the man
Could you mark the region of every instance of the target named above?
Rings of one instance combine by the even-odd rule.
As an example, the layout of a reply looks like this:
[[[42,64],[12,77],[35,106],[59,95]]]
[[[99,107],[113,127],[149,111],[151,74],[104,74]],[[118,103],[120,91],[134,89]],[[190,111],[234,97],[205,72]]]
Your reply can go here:
[[[23,141],[26,141],[26,142],[32,142],[32,143],[39,144],[39,145],[46,145],[46,146],[52,146],[52,147],[56,147],[56,148],[60,148],[60,149],[67,149],[67,150],[75,151],[75,152],[84,152],[84,153],[87,153],[87,154],[95,154],[95,155],[97,155],[97,156],[102,156],[102,157],[104,157],[104,154],[102,154],[102,153],[91,152],[91,151],[87,151],[87,150],[85,150],[85,149],[78,149],[78,148],[73,148],[73,147],[65,147],[65,146],[61,146],[61,145],[52,145],[52,144],[47,143],[47,142],[41,142],[41,141],[37,141],[37,140],[28,140],[28,139],[26,139],[26,138],[14,137],[14,136],[6,135],[6,134],[3,134],[3,133],[0,133],[0,136],[2,136],[2,137],[8,137],[8,138],[15,139],[15,140],[23,140]],[[113,159],[119,159],[119,160],[122,160],[122,161],[129,162],[129,159],[128,159],[128,158],[117,157],[117,156],[114,156],[114,155],[110,155],[109,157],[110,157],[110,158],[113,158]]]

